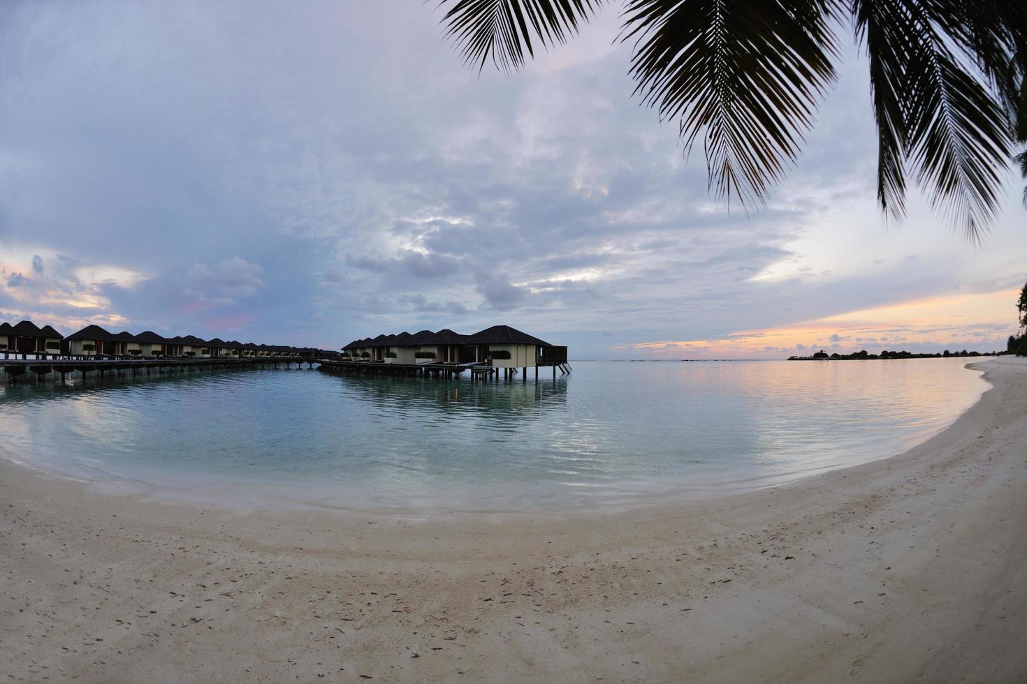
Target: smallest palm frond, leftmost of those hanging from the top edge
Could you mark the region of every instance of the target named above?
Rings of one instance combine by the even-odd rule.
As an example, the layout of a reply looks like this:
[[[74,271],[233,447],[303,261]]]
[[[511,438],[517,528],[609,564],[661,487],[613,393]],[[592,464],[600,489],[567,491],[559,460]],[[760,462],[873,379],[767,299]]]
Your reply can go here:
[[[500,71],[520,69],[536,43],[549,47],[575,35],[604,0],[457,0],[443,17],[468,66],[487,59]],[[440,5],[451,4],[441,0]]]

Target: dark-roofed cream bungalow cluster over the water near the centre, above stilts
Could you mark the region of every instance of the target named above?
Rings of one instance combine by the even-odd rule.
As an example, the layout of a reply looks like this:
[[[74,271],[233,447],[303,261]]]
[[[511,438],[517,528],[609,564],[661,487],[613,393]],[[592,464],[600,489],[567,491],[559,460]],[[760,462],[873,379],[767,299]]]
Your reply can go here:
[[[473,364],[499,368],[554,366],[567,362],[567,348],[549,345],[508,325],[494,325],[464,335],[444,328],[411,334],[380,334],[354,339],[342,348],[355,361],[391,364]]]

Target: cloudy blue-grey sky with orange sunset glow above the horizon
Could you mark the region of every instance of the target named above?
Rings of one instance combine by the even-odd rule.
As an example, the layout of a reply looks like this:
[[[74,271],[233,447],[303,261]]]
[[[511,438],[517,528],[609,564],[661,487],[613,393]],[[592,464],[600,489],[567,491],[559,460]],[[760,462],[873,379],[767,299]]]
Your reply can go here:
[[[633,97],[614,5],[520,73],[435,2],[0,4],[0,320],[338,349],[507,324],[573,359],[1004,349],[1009,172],[980,244],[875,202],[848,49],[769,202]],[[846,45],[847,36],[842,36]]]

